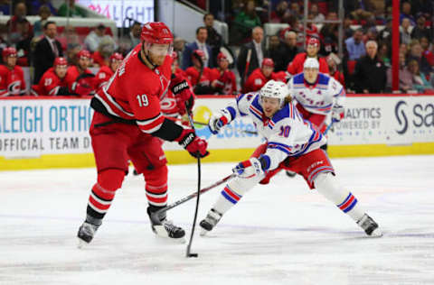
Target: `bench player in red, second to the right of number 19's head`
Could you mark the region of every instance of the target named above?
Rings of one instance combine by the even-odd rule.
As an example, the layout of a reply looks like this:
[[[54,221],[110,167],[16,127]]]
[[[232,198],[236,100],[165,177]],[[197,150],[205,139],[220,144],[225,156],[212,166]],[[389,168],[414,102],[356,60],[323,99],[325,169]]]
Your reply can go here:
[[[218,68],[211,69],[211,86],[214,89],[213,93],[231,95],[237,92],[237,81],[235,74],[229,67],[229,60],[220,52],[217,55]]]

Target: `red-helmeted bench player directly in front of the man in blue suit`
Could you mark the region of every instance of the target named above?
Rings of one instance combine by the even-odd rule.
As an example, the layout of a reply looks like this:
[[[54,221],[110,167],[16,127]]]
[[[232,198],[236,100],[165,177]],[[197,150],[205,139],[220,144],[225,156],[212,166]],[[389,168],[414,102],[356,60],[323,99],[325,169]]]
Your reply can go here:
[[[195,50],[191,55],[191,60],[193,66],[185,69],[185,73],[192,83],[194,93],[197,95],[212,94],[211,69],[203,65],[206,60],[205,53],[202,50]]]

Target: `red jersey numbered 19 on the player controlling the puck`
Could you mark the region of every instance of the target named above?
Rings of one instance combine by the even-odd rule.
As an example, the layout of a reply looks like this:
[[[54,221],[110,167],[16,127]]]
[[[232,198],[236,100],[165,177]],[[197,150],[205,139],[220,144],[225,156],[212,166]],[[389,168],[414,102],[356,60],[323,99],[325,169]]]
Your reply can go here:
[[[149,69],[140,58],[141,44],[122,61],[109,83],[100,88],[94,99],[98,100],[109,115],[124,120],[136,120],[145,133],[160,129],[165,116],[160,110],[160,100],[168,93],[172,58]]]

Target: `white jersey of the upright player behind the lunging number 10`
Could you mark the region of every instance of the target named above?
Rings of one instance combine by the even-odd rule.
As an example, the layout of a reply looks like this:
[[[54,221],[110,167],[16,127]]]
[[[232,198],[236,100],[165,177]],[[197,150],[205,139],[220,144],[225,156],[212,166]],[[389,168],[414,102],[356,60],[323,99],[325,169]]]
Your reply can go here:
[[[316,84],[308,85],[304,73],[288,81],[289,92],[308,112],[327,115],[334,104],[344,106],[344,87],[324,73],[318,73]]]

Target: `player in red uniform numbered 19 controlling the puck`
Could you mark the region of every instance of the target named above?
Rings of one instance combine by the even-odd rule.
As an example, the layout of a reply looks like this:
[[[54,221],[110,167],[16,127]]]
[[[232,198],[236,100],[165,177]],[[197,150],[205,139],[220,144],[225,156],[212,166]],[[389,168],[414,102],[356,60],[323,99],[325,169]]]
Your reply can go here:
[[[208,155],[206,141],[161,113],[160,98],[169,86],[184,104],[193,97],[186,81],[170,82],[173,41],[165,23],[146,23],[141,42],[91,100],[95,113],[90,137],[98,181],[90,191],[86,220],[79,229],[80,244],[89,244],[102,224],[127,173],[128,159],[145,178],[147,213],[151,216],[167,203],[167,161],[162,141],[178,142],[193,157]],[[184,229],[167,220],[165,213],[159,220],[151,219],[151,227],[157,235],[184,239]]]

